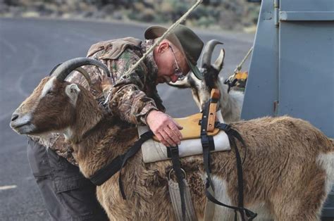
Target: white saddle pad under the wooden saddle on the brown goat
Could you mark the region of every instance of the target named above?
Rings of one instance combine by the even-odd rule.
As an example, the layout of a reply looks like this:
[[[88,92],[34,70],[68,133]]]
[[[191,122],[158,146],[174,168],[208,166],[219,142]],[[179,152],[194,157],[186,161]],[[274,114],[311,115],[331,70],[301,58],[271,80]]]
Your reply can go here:
[[[217,118],[220,122],[223,122],[221,116],[221,111],[217,112]],[[144,134],[147,132],[149,127],[138,127],[138,134]],[[214,136],[214,145],[216,151],[230,151],[230,142],[228,141],[228,135],[225,134],[222,130]],[[178,146],[180,157],[185,156],[194,156],[202,154],[202,143],[201,139],[185,139],[181,141],[181,144]],[[160,142],[154,141],[154,139],[149,139],[148,141],[142,144],[142,156],[144,163],[152,163],[160,160],[169,159],[167,156],[167,148]]]

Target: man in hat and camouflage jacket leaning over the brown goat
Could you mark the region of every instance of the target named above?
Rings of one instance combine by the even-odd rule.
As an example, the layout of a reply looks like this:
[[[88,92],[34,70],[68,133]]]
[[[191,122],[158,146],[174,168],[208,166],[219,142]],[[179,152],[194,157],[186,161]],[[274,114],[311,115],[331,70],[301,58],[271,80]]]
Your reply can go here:
[[[156,84],[175,82],[190,70],[201,78],[196,65],[202,40],[189,28],[179,25],[143,63],[125,75],[164,32],[166,28],[153,26],[145,31],[145,42],[127,37],[94,44],[87,56],[106,64],[111,77],[106,77],[95,66],[85,69],[92,77],[92,85],[87,89],[111,115],[117,115],[129,127],[148,125],[164,145],[175,146],[182,139],[182,127],[163,113],[165,108]],[[80,74],[69,77],[68,81],[87,86]],[[94,197],[95,187],[75,167],[70,146],[64,143],[63,136],[52,136],[47,150],[41,143],[41,140],[30,140],[28,156],[51,217],[54,220],[105,220]],[[40,168],[42,172],[38,171]]]

